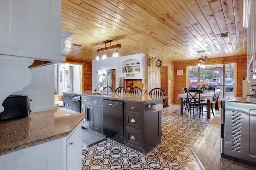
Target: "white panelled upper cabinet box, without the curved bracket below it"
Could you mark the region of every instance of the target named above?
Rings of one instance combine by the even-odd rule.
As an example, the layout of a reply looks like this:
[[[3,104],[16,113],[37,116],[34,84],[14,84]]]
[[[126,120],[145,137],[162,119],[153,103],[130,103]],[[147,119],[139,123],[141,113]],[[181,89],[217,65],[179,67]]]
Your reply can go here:
[[[61,0],[1,0],[0,54],[40,61],[61,56]]]

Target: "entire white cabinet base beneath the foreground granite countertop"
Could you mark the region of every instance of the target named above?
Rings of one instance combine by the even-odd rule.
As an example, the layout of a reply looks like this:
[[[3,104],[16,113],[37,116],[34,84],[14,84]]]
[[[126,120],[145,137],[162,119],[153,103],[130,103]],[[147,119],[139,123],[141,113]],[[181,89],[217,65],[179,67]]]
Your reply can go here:
[[[0,156],[0,170],[81,170],[81,123],[67,137]]]

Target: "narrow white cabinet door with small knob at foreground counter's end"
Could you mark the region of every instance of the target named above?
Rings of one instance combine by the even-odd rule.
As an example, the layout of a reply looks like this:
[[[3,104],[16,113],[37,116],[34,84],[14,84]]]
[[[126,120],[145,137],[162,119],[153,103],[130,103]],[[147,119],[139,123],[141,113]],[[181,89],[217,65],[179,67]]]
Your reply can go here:
[[[81,123],[66,140],[67,170],[81,170],[82,160],[82,126]]]

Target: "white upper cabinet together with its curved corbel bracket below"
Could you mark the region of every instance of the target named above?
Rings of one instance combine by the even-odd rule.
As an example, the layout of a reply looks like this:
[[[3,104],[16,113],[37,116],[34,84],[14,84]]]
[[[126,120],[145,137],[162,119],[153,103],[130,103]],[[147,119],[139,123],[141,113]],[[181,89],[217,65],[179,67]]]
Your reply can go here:
[[[29,68],[66,61],[61,43],[69,35],[61,30],[61,0],[0,0],[0,112],[30,84]]]

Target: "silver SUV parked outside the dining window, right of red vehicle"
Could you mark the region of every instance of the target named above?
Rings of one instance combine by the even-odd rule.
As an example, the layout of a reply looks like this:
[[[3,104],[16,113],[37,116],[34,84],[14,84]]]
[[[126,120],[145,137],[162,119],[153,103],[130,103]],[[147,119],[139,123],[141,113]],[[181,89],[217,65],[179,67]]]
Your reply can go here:
[[[214,89],[219,89],[223,85],[223,78],[213,78],[209,82],[209,86]],[[234,81],[232,78],[225,78],[225,90],[232,92],[234,90]]]

